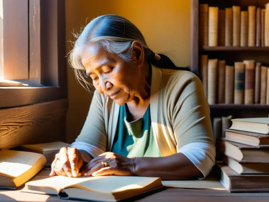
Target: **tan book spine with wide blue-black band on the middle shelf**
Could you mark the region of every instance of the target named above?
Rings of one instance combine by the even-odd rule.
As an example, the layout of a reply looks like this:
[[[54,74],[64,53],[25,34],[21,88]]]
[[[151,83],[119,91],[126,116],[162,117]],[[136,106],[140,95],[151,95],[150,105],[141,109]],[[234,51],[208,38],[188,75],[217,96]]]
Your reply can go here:
[[[245,93],[245,64],[243,62],[235,62],[235,88],[234,103],[244,104]]]

